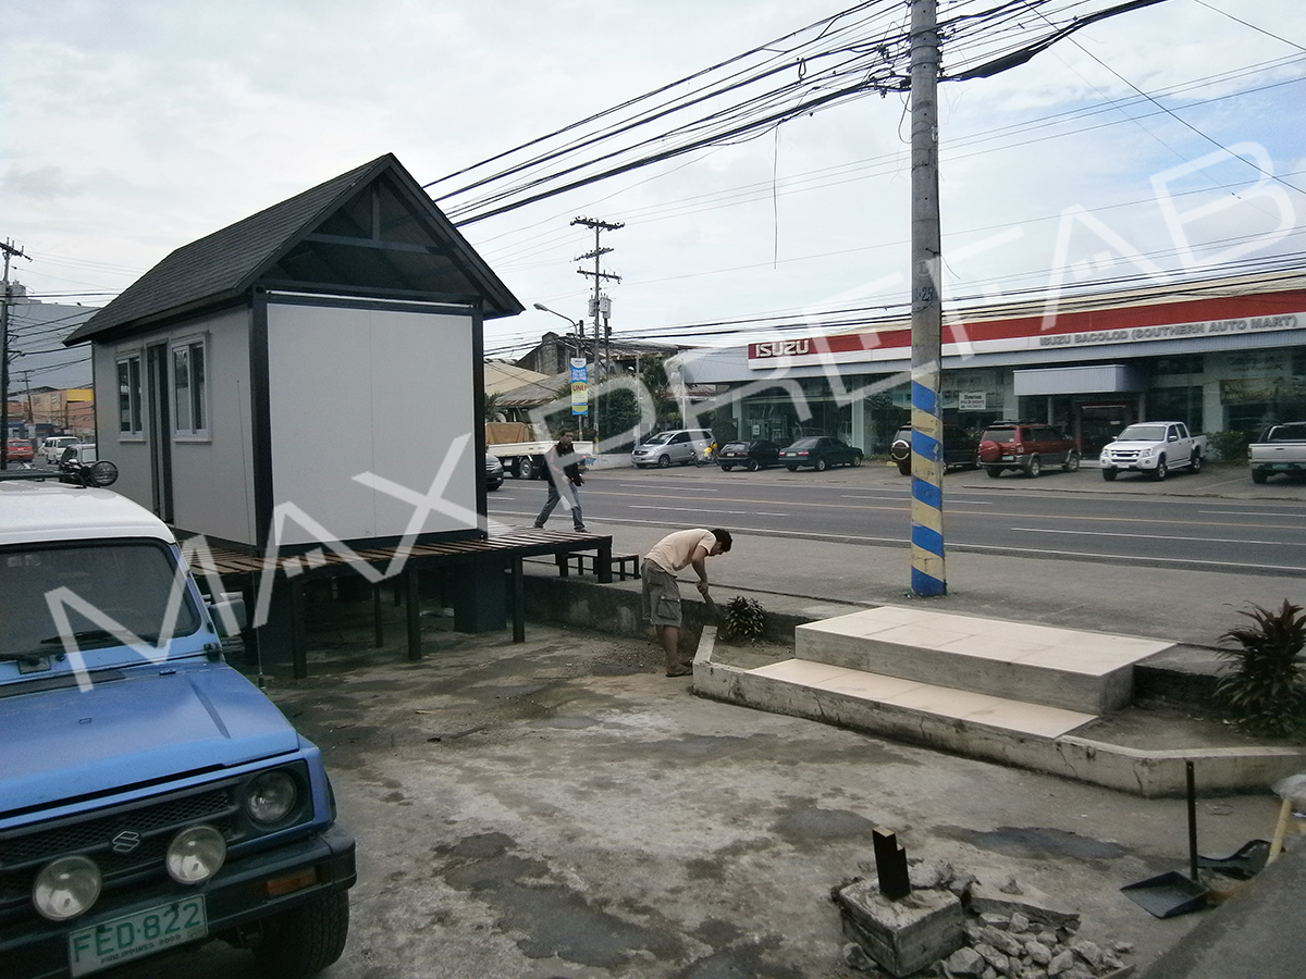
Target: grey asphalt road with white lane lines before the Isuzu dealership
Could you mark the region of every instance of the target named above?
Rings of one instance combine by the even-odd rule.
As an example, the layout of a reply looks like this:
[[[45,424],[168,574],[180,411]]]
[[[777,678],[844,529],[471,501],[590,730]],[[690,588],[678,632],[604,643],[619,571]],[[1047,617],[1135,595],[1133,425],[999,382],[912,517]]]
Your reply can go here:
[[[1187,480],[1187,482],[1185,482]],[[1038,480],[952,473],[944,480],[944,529],[953,550],[1071,560],[1192,568],[1241,574],[1306,576],[1306,521],[1293,496],[1229,499],[1221,483],[1250,486],[1246,473],[1175,474],[1164,484],[1122,476],[1105,484],[1096,469],[1053,471]],[[1280,492],[1299,484],[1281,483]],[[1187,491],[1186,495],[1183,491]],[[521,523],[543,500],[543,484],[509,479],[490,493],[490,516]],[[901,544],[910,533],[910,480],[867,463],[829,473],[714,469],[614,469],[582,489],[586,523],[692,522],[731,530]],[[554,520],[559,520],[558,516]]]

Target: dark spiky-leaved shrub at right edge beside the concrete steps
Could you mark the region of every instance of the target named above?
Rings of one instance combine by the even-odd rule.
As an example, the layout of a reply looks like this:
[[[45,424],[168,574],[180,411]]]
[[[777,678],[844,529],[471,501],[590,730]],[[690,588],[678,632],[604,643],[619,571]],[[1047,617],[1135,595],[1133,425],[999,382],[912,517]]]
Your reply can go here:
[[[1220,642],[1235,644],[1218,650],[1226,660],[1216,692],[1229,704],[1237,721],[1249,731],[1267,735],[1306,732],[1306,616],[1288,599],[1279,611],[1252,606],[1241,611],[1252,624],[1229,629]]]

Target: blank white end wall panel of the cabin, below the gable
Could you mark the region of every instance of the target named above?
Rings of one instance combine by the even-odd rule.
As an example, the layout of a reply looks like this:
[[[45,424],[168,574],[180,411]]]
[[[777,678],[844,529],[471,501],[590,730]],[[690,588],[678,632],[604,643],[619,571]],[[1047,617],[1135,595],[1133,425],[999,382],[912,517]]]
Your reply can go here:
[[[469,317],[272,303],[268,351],[283,543],[319,540],[315,523],[340,540],[477,526]],[[376,478],[430,493],[430,512]]]

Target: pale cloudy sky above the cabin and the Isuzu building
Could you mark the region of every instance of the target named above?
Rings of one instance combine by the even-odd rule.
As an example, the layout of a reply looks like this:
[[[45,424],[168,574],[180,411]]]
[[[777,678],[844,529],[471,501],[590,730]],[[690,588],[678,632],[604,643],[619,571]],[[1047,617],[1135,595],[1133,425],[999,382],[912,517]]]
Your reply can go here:
[[[10,278],[101,305],[384,153],[426,184],[846,5],[3,0],[0,240],[26,255]],[[946,300],[1299,266],[1303,80],[1299,0],[1165,0],[944,82]],[[466,225],[526,307],[486,324],[487,354],[586,316],[576,257],[594,238],[576,217],[624,225],[601,240],[614,337],[739,343],[832,309],[901,312],[909,151],[905,95],[867,94]],[[68,360],[30,354],[18,369]]]

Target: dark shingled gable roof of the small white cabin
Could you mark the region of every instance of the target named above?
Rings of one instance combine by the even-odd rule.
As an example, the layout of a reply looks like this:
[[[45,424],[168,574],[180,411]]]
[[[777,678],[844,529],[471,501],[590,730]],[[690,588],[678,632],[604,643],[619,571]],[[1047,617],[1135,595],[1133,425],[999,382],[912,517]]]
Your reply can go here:
[[[522,305],[393,154],[178,248],[64,341],[133,333],[232,303],[256,283]]]

